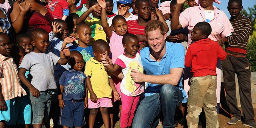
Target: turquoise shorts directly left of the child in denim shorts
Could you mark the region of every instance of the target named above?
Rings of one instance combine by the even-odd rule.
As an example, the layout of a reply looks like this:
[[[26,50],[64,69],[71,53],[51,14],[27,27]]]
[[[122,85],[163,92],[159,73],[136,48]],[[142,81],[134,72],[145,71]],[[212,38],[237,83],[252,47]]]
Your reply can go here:
[[[32,108],[29,95],[16,97],[16,112],[17,123],[31,124]]]

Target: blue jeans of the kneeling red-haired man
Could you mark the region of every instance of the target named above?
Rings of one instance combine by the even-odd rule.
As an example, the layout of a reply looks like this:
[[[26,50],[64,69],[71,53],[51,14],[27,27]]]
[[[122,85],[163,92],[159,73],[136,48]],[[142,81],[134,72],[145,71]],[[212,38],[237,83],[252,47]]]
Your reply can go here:
[[[136,110],[133,128],[155,128],[159,123],[159,114],[164,115],[163,128],[174,128],[175,109],[183,100],[178,86],[164,84],[159,93],[141,96]]]

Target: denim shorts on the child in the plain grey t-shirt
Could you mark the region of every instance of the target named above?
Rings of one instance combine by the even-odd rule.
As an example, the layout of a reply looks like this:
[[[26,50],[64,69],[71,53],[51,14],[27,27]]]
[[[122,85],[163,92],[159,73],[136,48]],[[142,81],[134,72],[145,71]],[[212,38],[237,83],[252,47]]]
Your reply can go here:
[[[30,100],[32,105],[33,120],[32,124],[42,124],[48,120],[51,101],[52,90],[39,92],[39,97],[32,96],[30,92]]]

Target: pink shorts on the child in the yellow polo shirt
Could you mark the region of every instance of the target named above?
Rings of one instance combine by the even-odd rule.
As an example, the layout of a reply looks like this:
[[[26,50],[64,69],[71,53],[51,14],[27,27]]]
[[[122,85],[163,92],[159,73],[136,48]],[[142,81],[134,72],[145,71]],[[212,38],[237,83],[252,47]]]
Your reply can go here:
[[[111,98],[98,98],[97,102],[94,103],[90,98],[88,98],[88,108],[94,109],[94,108],[111,108],[113,107]]]

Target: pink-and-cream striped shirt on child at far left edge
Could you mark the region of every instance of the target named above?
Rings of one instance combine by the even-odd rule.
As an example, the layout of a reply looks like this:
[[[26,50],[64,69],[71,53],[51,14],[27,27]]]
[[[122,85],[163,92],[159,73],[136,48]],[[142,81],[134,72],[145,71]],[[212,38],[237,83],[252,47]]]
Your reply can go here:
[[[20,86],[18,70],[13,58],[2,54],[0,54],[0,83],[5,101],[26,95],[26,91]]]

